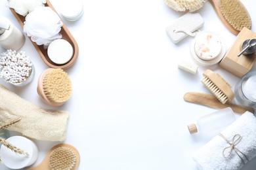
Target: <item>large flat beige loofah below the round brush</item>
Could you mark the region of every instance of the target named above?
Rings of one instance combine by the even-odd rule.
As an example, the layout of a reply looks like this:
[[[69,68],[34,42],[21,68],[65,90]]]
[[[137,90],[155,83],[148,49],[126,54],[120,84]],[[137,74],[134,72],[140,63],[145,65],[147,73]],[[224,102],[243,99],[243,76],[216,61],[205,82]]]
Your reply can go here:
[[[0,85],[0,125],[14,118],[21,120],[9,127],[9,130],[41,141],[66,139],[67,111],[42,109]]]

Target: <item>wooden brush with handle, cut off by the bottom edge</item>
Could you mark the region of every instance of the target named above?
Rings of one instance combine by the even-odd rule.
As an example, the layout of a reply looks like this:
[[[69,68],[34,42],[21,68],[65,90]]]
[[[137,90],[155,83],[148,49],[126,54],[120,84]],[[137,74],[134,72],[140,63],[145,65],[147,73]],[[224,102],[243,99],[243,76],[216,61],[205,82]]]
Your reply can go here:
[[[49,150],[45,159],[29,170],[75,170],[80,161],[77,149],[66,143],[57,144]]]

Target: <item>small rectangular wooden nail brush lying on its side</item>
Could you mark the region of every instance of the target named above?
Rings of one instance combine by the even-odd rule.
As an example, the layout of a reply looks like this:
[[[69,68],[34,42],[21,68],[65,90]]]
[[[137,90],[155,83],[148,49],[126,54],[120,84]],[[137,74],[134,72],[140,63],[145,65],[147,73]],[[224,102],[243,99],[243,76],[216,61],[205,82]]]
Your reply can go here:
[[[203,78],[201,82],[205,87],[210,90],[221,103],[226,103],[226,101],[234,99],[234,92],[231,89],[230,84],[224,80],[221,75],[214,73],[213,71],[207,69],[203,73]]]

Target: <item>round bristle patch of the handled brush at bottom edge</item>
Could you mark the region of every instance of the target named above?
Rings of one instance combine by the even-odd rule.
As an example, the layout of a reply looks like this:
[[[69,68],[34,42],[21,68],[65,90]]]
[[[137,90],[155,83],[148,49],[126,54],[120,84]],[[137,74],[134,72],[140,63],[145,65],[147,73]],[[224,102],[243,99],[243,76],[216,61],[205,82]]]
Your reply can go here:
[[[71,170],[75,163],[76,156],[74,150],[66,146],[54,149],[49,158],[51,170]]]

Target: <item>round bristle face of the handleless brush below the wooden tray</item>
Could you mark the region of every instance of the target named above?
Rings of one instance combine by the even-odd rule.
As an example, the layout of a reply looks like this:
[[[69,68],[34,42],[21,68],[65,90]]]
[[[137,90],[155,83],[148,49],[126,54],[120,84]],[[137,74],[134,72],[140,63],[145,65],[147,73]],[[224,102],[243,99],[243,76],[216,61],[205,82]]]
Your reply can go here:
[[[43,78],[43,90],[50,101],[63,103],[72,93],[71,80],[62,69],[53,69]]]

